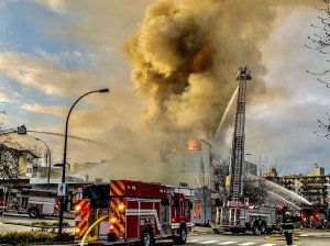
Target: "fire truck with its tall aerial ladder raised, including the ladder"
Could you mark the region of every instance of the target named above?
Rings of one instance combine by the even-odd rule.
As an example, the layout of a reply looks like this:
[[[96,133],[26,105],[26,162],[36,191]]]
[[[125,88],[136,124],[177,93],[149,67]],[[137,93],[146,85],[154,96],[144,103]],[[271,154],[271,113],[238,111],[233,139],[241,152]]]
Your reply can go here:
[[[245,126],[245,91],[246,81],[251,80],[251,71],[240,67],[237,75],[239,93],[235,125],[232,139],[230,182],[227,202],[217,208],[213,232],[230,231],[240,233],[252,231],[255,235],[271,233],[279,225],[278,211],[271,206],[250,206],[249,198],[243,198],[243,163],[244,163],[244,126]]]

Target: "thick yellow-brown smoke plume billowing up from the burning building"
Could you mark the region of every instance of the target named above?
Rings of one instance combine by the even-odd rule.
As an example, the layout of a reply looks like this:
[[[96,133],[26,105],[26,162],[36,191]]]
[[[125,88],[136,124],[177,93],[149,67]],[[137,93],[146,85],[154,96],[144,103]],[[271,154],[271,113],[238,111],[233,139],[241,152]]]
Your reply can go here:
[[[132,66],[134,92],[146,99],[143,130],[112,132],[112,144],[119,145],[111,148],[116,153],[112,170],[118,164],[125,167],[128,177],[136,170],[138,179],[166,179],[164,175],[170,170],[162,166],[162,158],[170,147],[191,137],[212,143],[238,86],[240,66],[252,70],[250,99],[266,91],[260,46],[272,32],[277,8],[307,2],[160,0],[150,5],[123,45]],[[227,122],[224,130],[231,124]],[[128,143],[120,144],[125,138]],[[122,169],[119,172],[122,175]]]

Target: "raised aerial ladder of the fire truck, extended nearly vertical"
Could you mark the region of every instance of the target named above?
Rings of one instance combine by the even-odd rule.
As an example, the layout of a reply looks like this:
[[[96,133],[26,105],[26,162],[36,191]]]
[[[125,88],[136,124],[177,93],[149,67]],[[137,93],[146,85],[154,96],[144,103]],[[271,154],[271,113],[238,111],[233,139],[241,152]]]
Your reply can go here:
[[[234,201],[243,194],[242,168],[244,163],[244,126],[245,126],[245,91],[246,81],[251,80],[251,71],[245,66],[240,67],[237,75],[239,81],[239,94],[234,133],[232,138],[231,164],[230,164],[230,190],[229,198]]]

